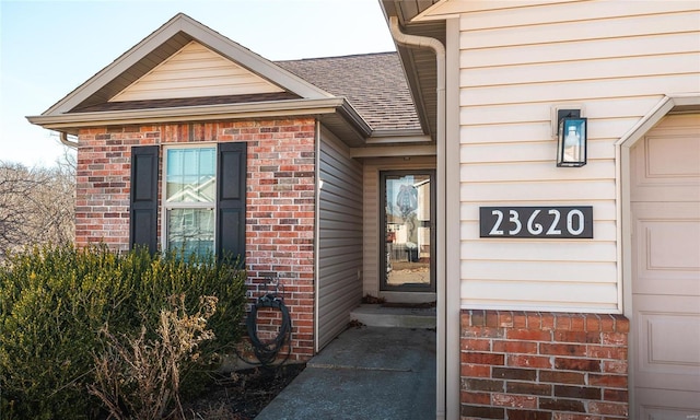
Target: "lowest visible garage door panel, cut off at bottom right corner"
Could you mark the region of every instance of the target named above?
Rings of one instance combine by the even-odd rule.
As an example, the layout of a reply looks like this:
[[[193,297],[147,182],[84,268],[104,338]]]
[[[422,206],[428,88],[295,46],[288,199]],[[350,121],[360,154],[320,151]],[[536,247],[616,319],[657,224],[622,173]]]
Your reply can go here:
[[[698,408],[685,407],[684,400],[692,400],[691,393],[638,389],[637,399],[642,401],[637,411],[640,420],[697,420]],[[674,408],[669,408],[674,407]]]

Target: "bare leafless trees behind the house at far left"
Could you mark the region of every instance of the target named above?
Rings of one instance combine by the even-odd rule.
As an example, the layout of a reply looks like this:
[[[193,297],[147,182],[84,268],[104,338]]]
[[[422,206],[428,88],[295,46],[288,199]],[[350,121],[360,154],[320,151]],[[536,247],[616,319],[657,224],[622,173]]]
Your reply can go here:
[[[71,154],[54,167],[0,161],[0,260],[25,246],[72,242],[74,194]]]

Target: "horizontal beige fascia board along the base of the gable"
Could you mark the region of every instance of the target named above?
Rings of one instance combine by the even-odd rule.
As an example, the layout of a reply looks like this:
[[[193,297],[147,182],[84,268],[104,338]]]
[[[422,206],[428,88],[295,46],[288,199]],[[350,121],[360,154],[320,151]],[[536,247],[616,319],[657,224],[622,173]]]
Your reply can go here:
[[[346,109],[343,98],[275,101],[250,104],[183,106],[26,117],[47,129],[66,131],[81,127],[137,125],[214,119],[243,119],[334,114]],[[351,108],[350,108],[351,109]]]

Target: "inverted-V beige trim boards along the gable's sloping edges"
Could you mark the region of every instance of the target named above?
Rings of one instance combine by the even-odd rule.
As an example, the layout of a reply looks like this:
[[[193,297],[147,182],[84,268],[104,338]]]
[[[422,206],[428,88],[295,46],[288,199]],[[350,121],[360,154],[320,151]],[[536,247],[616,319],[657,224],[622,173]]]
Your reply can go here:
[[[332,97],[328,92],[281,69],[269,60],[210,30],[186,14],[179,13],[42,115],[48,116],[68,113],[179,32],[188,34],[221,56],[301,97]]]

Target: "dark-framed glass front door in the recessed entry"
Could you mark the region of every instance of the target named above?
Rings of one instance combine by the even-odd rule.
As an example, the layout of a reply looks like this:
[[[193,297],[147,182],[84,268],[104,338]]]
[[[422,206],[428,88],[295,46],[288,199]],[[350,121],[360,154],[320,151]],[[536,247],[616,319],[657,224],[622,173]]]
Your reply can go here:
[[[381,173],[381,289],[435,291],[434,171]]]

